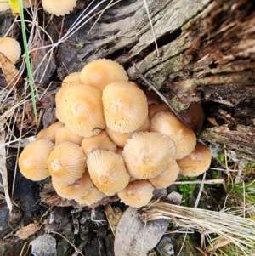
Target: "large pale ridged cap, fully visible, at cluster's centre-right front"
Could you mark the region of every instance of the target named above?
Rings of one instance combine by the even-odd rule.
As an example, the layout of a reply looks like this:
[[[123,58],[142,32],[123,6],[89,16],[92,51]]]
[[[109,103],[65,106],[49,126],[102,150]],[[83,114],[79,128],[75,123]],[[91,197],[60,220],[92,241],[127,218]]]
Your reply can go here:
[[[174,143],[167,136],[139,132],[127,140],[122,156],[130,176],[150,179],[167,167],[173,160],[174,152]]]

